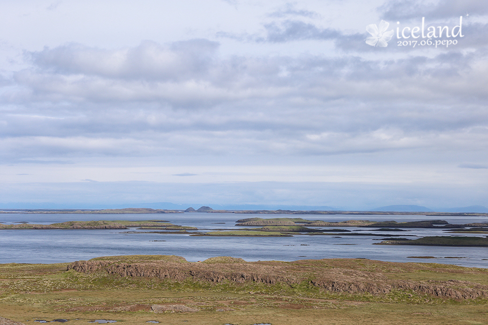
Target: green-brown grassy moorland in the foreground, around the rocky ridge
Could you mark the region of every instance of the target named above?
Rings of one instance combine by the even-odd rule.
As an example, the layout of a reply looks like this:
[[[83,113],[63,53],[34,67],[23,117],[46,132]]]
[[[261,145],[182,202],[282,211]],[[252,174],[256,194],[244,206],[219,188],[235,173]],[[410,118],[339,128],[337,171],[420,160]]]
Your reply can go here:
[[[181,257],[163,255],[103,257],[90,260],[90,263],[108,263],[119,269],[137,267],[138,263],[215,270],[242,266],[283,270],[284,277],[294,272],[306,276],[318,270],[321,274],[338,274],[343,279],[359,279],[366,274],[386,284],[415,281],[428,285],[448,281],[454,287],[466,290],[488,286],[487,269],[433,263],[363,259],[244,262],[229,257],[190,263]],[[452,299],[439,297],[435,292],[419,293],[407,289],[378,294],[347,292],[347,289],[335,292],[311,286],[306,281],[287,284],[279,281],[172,280],[144,277],[143,274],[109,274],[103,268],[67,271],[68,265],[0,265],[0,316],[24,324],[32,324],[36,318],[46,321],[69,319],[67,325],[87,324],[95,319],[116,320],[124,325],[146,324],[148,321],[202,325],[481,325],[487,324],[488,319],[486,297]]]

